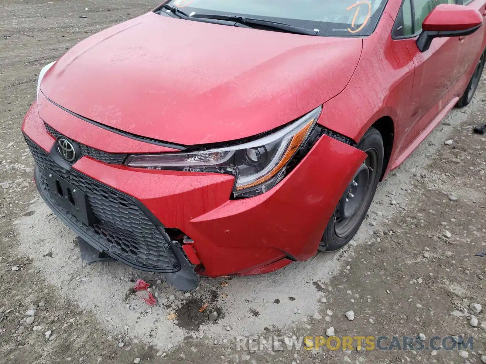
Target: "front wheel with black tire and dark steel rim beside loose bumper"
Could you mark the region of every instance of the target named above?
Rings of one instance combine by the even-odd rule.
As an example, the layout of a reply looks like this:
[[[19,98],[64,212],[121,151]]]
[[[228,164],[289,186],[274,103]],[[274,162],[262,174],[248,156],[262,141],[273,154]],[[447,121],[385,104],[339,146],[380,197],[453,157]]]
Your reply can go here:
[[[339,200],[322,235],[321,243],[319,244],[319,250],[321,251],[333,251],[342,248],[353,238],[360,228],[375,196],[383,166],[384,148],[382,134],[373,127],[369,128],[358,143],[358,148],[366,152],[368,157],[363,165],[358,168]],[[356,184],[353,184],[355,179],[360,181],[360,183],[356,182]],[[360,184],[362,187],[359,186]],[[354,194],[356,196],[351,194],[353,191],[355,191]],[[359,199],[349,202],[351,200],[350,196],[352,199],[355,197]],[[348,217],[349,213],[352,213],[351,217]]]

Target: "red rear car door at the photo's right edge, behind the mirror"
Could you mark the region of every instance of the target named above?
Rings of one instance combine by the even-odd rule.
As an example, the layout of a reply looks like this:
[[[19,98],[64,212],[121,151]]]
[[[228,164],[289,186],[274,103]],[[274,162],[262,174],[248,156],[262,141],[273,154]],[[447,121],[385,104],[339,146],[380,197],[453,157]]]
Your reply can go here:
[[[462,5],[478,10],[483,17],[486,17],[485,3],[486,0],[459,0]],[[460,37],[461,39],[461,64],[459,66],[460,75],[463,77],[460,83],[457,85],[457,89],[454,90],[456,94],[462,94],[464,89],[469,83],[469,78],[471,77],[474,68],[476,67],[481,53],[484,51],[486,36],[486,27],[480,29],[465,37]],[[459,95],[460,96],[460,95]]]

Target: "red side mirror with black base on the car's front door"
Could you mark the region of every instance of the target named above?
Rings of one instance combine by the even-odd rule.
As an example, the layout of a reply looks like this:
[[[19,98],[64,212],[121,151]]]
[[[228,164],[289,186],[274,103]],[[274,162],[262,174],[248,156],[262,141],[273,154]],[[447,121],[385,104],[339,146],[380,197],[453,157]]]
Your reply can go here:
[[[422,33],[417,38],[421,52],[430,48],[436,37],[469,35],[483,25],[483,17],[477,10],[456,4],[439,4],[422,22]]]

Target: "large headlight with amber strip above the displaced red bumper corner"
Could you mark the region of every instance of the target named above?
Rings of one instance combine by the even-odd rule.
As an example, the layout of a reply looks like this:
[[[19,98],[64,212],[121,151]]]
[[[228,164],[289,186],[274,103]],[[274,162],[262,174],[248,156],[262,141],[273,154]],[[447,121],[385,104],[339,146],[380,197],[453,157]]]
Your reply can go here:
[[[312,130],[322,106],[260,139],[231,147],[185,153],[131,155],[126,165],[235,176],[235,197],[259,195],[285,176],[285,166]]]

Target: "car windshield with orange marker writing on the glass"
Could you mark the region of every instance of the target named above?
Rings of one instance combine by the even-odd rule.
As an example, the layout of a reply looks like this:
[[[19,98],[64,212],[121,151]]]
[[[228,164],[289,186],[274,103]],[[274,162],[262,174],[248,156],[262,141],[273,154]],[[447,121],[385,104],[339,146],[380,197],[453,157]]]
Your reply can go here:
[[[318,35],[373,33],[386,0],[170,0],[184,13],[237,15],[318,30]]]

